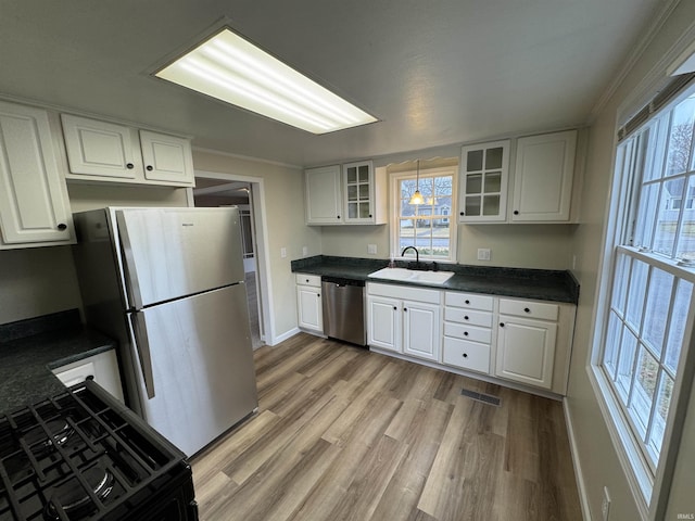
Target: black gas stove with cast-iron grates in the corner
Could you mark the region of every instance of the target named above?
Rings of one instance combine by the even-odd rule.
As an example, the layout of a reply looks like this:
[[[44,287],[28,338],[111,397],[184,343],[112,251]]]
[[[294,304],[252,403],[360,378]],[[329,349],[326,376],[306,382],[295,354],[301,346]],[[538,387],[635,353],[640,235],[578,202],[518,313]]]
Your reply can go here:
[[[0,416],[0,520],[198,520],[185,455],[91,381]]]

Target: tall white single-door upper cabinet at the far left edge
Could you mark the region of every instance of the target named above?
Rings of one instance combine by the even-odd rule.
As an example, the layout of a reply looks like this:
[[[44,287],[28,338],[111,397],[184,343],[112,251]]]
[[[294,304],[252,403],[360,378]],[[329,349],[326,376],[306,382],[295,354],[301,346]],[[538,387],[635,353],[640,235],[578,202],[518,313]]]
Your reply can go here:
[[[0,249],[74,242],[48,113],[0,102]]]

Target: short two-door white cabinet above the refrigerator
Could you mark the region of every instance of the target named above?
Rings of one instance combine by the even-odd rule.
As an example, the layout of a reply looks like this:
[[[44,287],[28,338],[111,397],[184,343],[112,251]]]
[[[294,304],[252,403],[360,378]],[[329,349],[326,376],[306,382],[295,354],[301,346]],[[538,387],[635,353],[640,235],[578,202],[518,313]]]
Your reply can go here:
[[[67,179],[192,187],[188,139],[62,114]]]

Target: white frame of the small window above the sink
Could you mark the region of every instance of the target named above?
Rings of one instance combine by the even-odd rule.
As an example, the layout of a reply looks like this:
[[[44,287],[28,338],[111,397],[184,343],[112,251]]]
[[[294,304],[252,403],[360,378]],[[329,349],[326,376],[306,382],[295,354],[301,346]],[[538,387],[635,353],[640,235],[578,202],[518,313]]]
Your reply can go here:
[[[419,178],[420,181],[422,179],[429,179],[433,177],[452,177],[452,204],[447,208],[447,214],[427,216],[421,218],[427,218],[431,220],[433,218],[440,217],[446,219],[448,221],[450,229],[450,238],[448,238],[448,256],[446,258],[440,256],[432,256],[420,253],[419,258],[421,260],[434,260],[437,263],[452,263],[455,264],[458,251],[457,251],[457,237],[458,237],[458,223],[457,219],[452,218],[452,216],[456,215],[456,207],[458,204],[458,165],[452,166],[439,166],[434,168],[420,168]],[[404,179],[413,179],[417,178],[416,170],[405,170],[399,173],[392,173],[389,175],[389,185],[391,189],[391,225],[390,225],[390,251],[391,257],[397,260],[412,260],[412,257],[405,257],[401,255],[401,244],[400,244],[400,228],[401,228],[401,190],[400,182]]]

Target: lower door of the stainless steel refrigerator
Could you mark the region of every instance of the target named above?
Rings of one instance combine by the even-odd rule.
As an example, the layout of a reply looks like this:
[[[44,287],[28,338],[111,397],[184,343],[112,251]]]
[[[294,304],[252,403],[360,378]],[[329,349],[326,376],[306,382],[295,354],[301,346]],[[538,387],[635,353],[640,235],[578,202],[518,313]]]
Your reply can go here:
[[[191,456],[257,406],[245,287],[132,314],[143,417]]]

